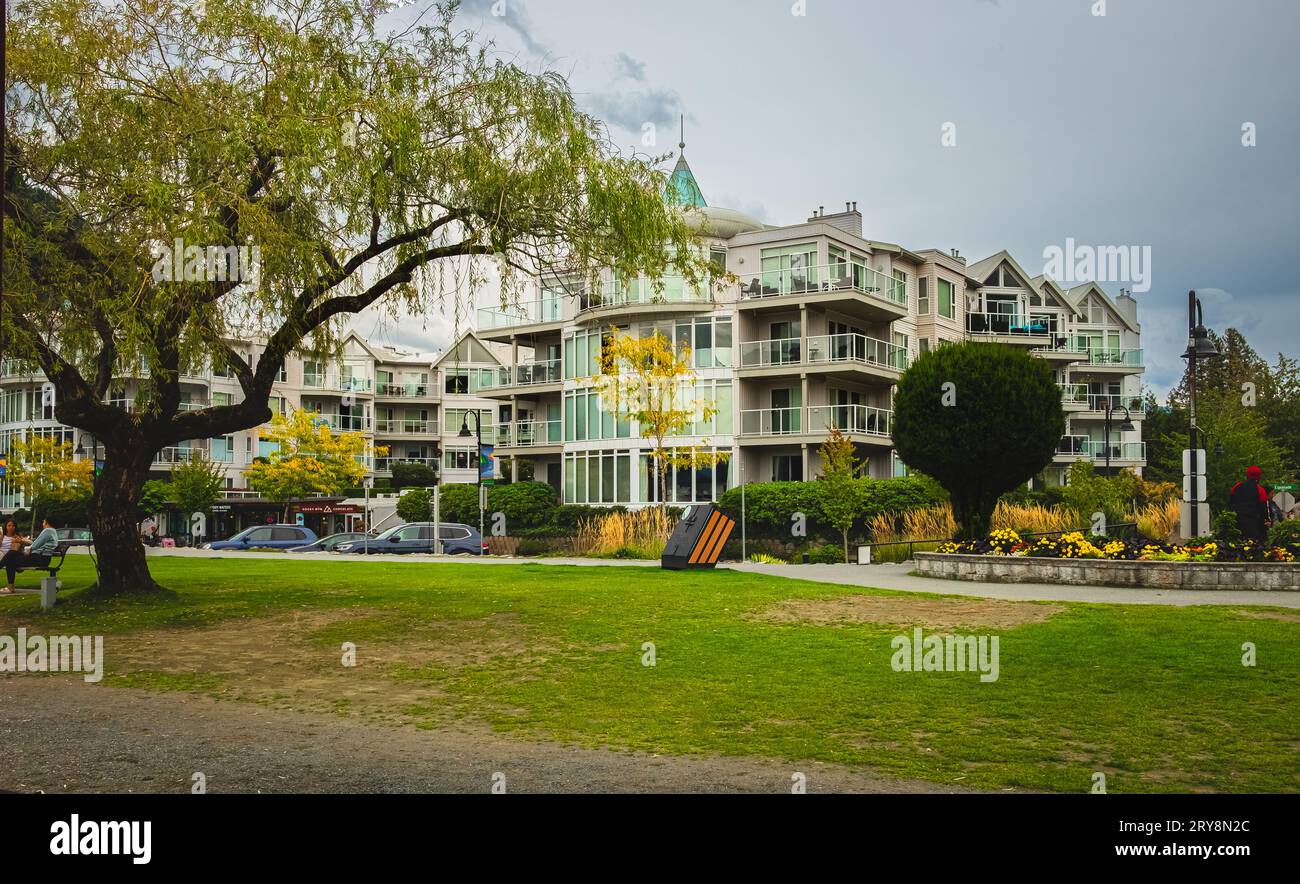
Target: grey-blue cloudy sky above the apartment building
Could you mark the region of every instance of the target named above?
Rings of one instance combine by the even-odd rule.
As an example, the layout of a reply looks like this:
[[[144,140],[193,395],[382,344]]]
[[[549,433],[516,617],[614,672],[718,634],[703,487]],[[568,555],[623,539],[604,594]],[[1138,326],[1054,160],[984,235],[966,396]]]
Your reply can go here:
[[[1300,355],[1297,0],[465,0],[460,23],[564,73],[629,150],[647,124],[675,150],[685,114],[714,205],[792,224],[857,200],[870,238],[1031,273],[1067,239],[1149,248],[1157,391],[1188,289],[1209,325]]]

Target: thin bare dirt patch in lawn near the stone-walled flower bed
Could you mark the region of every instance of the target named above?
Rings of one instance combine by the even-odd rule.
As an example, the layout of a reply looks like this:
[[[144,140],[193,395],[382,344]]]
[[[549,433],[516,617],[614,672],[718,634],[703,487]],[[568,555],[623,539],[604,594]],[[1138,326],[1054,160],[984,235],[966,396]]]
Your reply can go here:
[[[884,623],[930,629],[987,627],[1014,629],[1043,623],[1060,614],[1061,604],[1002,599],[906,598],[896,595],[837,595],[792,598],[758,615],[770,623]]]

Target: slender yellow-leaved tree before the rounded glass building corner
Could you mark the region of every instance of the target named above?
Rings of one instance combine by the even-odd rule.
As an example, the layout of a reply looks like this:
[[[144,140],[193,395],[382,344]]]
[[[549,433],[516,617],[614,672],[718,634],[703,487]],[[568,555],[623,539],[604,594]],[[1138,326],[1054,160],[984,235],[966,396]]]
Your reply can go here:
[[[599,372],[593,382],[606,411],[615,420],[634,421],[641,438],[654,443],[660,502],[668,497],[671,467],[705,469],[731,458],[703,443],[668,445],[672,437],[688,436],[697,421],[710,422],[718,413],[716,403],[694,395],[690,347],[673,347],[659,332],[638,338],[611,328],[602,341]]]

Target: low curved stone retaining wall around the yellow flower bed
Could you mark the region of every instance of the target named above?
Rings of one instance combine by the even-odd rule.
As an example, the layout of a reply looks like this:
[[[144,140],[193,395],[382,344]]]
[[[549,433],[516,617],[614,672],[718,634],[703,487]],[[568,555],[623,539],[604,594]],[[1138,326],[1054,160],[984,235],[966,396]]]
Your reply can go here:
[[[978,582],[1300,592],[1300,563],[1122,562],[918,552],[916,571],[927,577]]]

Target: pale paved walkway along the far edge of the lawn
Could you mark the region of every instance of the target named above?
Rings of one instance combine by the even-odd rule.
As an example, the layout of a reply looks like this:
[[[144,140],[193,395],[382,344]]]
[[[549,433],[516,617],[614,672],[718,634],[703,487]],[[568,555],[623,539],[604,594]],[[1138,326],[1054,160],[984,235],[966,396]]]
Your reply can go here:
[[[74,550],[74,552],[77,552]],[[312,562],[365,563],[400,562],[407,564],[569,564],[581,567],[642,567],[658,568],[658,562],[638,562],[634,559],[511,559],[488,556],[484,559],[433,555],[339,555],[317,552],[309,555],[294,552],[230,552],[224,550],[150,550],[150,558],[234,558],[234,559],[291,559]],[[1249,592],[1223,589],[1122,589],[1115,586],[1061,586],[1056,584],[982,584],[963,580],[939,580],[935,577],[914,577],[909,572],[914,563],[905,564],[755,564],[732,562],[720,566],[733,571],[764,573],[774,577],[812,580],[822,584],[841,584],[875,589],[893,589],[904,593],[939,593],[944,595],[968,595],[974,598],[1004,598],[1035,602],[1101,602],[1118,604],[1268,604],[1274,607],[1300,608],[1300,592]],[[1300,589],[1300,588],[1297,588]]]

